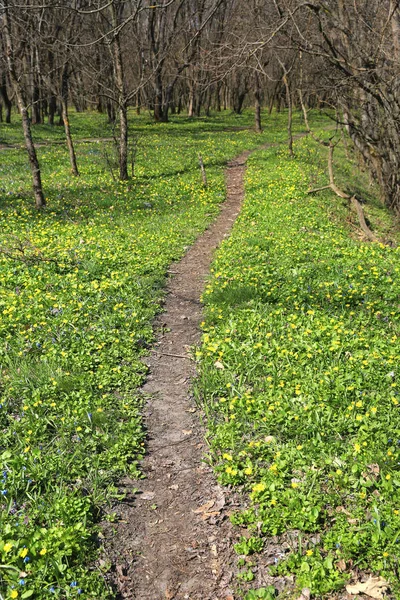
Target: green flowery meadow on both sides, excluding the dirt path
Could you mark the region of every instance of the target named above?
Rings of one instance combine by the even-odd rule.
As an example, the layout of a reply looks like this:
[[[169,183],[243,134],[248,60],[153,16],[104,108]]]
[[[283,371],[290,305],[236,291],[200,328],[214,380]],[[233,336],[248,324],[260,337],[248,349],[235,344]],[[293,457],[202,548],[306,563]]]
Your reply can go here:
[[[269,536],[295,531],[300,543],[272,575],[326,598],[352,571],[374,572],[400,598],[399,250],[360,240],[330,192],[307,194],[326,183],[324,150],[302,139],[291,159],[285,114],[265,115],[262,135],[252,119],[155,125],[132,113],[128,182],[110,169],[104,115],[71,115],[79,178],[62,129],[36,126],[41,212],[18,119],[0,124],[0,600],[115,597],[96,562],[98,523],[119,478],[141,476],[140,358],[168,268],[218,214],[226,161],[267,143],[249,159],[195,350],[209,459],[249,500],[232,516],[249,532],[236,547],[240,578],[251,585]],[[313,123],[331,127],[318,114]],[[344,148],[335,161],[380,238],[395,240],[365,174]]]

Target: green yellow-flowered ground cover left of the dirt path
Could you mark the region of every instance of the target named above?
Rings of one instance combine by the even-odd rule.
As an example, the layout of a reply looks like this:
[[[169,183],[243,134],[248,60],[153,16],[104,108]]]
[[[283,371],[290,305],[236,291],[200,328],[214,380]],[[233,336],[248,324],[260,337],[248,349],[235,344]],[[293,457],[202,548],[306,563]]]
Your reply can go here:
[[[113,181],[102,144],[38,149],[48,207],[33,209],[26,155],[0,154],[0,595],[111,597],[94,562],[96,522],[144,448],[140,356],[153,339],[168,265],[218,212],[225,161],[283,140],[250,116],[151,125],[131,117],[136,176]],[[109,135],[104,116],[72,115],[77,138]],[[301,128],[300,119],[296,127]],[[35,127],[36,140],[60,129]],[[1,139],[20,143],[17,125]],[[201,184],[197,153],[209,187]]]

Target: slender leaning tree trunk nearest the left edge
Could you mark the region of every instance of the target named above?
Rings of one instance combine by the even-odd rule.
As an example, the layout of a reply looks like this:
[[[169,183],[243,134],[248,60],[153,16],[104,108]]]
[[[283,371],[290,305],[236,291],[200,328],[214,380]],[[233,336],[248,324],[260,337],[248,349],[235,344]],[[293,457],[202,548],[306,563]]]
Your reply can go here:
[[[8,74],[10,76],[11,84],[14,88],[14,93],[17,98],[18,108],[22,118],[22,129],[24,132],[25,146],[28,152],[29,164],[32,173],[32,184],[33,193],[35,196],[36,208],[43,208],[46,206],[46,200],[43,194],[42,178],[40,174],[39,161],[36,154],[35,145],[32,140],[31,122],[28,115],[28,109],[24,100],[22,87],[17,76],[15,65],[14,65],[14,48],[11,36],[11,27],[8,16],[8,0],[3,0],[4,13],[3,13],[3,30],[6,42],[6,57]]]

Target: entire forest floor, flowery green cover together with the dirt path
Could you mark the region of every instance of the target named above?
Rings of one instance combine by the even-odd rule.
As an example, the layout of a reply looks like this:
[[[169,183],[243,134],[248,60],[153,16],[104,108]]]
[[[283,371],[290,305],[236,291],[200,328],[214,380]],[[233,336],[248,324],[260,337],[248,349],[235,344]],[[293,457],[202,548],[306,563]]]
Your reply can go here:
[[[250,117],[133,116],[129,182],[99,115],[73,115],[79,178],[38,127],[43,212],[2,128],[5,598],[400,597],[398,225],[345,144],[379,242],[308,193],[323,149]]]

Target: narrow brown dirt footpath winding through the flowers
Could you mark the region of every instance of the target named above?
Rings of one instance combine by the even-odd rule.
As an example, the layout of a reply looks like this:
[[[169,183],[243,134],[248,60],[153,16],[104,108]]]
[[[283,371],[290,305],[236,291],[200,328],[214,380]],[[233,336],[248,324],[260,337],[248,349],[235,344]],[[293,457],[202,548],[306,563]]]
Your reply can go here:
[[[160,335],[146,360],[150,375],[142,388],[150,398],[146,478],[122,482],[131,504],[120,503],[115,509],[119,522],[104,527],[107,560],[115,567],[110,577],[120,598],[232,597],[237,533],[228,516],[238,499],[216,483],[203,462],[204,430],[190,393],[194,365],[188,350],[200,339],[200,295],[213,253],[239,213],[249,154],[229,163],[221,213],[174,266],[165,310],[156,323]]]

